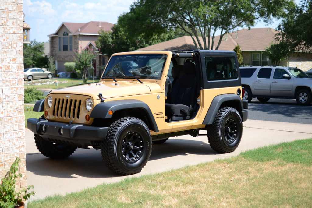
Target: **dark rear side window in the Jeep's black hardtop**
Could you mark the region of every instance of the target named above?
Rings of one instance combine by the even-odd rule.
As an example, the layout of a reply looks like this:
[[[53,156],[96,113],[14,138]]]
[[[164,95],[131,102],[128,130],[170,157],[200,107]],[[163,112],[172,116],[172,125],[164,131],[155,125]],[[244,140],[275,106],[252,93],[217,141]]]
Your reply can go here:
[[[233,57],[205,57],[207,80],[232,80],[237,78],[237,67]]]

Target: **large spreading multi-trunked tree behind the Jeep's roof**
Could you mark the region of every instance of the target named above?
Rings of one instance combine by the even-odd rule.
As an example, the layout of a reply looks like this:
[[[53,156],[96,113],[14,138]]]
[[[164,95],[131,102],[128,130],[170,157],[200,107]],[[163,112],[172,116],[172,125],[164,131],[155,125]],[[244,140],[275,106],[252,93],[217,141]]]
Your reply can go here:
[[[128,24],[127,30],[149,36],[154,30],[180,29],[192,37],[198,49],[216,45],[217,50],[225,34],[253,26],[259,19],[270,23],[273,18],[285,17],[285,11],[294,5],[293,0],[140,0],[130,7],[135,24]],[[217,31],[221,34],[215,44]]]

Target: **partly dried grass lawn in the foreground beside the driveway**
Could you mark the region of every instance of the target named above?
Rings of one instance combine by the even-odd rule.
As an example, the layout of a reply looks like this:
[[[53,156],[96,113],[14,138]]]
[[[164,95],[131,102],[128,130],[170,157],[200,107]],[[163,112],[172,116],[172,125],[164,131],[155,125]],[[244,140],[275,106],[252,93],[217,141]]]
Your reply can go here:
[[[312,139],[128,178],[28,207],[311,207]]]

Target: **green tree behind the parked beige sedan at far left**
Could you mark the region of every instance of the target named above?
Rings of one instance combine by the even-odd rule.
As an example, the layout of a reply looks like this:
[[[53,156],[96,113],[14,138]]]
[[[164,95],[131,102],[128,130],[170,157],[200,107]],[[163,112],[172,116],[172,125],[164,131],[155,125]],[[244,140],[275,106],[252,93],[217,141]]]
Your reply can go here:
[[[33,40],[31,44],[24,44],[24,69],[30,67],[48,68],[49,58],[43,55],[43,43]]]

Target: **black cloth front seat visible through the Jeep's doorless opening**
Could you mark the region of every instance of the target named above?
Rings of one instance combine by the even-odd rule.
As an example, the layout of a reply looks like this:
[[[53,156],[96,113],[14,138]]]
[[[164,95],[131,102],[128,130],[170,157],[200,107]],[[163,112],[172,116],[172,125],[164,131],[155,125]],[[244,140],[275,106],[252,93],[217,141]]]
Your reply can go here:
[[[165,105],[166,116],[170,121],[188,120],[196,104],[196,70],[193,63],[185,63],[185,74],[173,85],[168,103]]]

